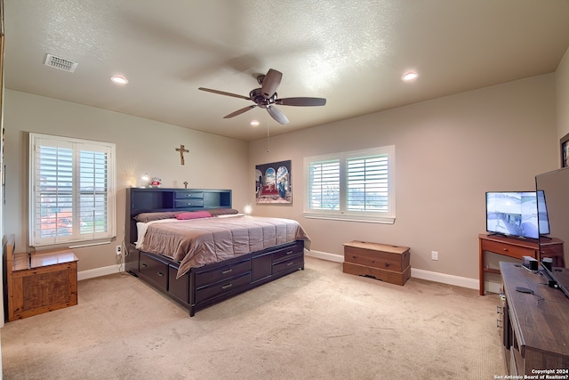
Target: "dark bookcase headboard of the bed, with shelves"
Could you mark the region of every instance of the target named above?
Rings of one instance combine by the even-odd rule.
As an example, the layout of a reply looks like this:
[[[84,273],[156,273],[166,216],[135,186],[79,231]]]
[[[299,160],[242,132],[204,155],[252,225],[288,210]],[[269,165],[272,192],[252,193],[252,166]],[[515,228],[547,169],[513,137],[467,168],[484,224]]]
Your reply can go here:
[[[124,238],[126,246],[138,239],[134,216],[140,213],[197,211],[231,208],[231,190],[212,189],[126,189]]]

